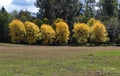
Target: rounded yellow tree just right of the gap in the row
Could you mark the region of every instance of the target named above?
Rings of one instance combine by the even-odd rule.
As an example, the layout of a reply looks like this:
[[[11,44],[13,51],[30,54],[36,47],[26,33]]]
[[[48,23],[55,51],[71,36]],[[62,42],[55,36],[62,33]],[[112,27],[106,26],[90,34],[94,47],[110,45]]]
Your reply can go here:
[[[88,41],[90,34],[89,26],[85,23],[75,23],[73,28],[73,37],[77,40],[78,44],[83,44]]]

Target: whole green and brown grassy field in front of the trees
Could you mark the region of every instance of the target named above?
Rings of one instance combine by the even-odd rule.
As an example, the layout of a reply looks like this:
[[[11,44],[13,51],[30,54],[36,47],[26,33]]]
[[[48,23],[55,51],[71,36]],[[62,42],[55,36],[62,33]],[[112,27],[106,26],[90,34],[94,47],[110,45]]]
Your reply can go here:
[[[120,47],[0,43],[0,76],[120,76]]]

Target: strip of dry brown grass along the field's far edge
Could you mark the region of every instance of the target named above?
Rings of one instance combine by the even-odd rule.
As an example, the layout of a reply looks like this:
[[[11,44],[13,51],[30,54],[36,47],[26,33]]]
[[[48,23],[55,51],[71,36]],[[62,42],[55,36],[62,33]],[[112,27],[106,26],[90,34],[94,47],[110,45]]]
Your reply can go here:
[[[120,50],[120,47],[115,46],[32,46],[19,44],[2,44],[0,53],[11,53],[14,55],[30,55],[36,58],[76,58],[81,53],[95,51]]]

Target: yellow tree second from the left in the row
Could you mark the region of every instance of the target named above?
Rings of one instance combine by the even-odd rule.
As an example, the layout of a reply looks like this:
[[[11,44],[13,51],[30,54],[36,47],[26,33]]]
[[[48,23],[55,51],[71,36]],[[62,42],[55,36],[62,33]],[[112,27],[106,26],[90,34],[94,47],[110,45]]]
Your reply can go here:
[[[25,38],[25,40],[29,44],[36,43],[36,40],[38,39],[38,35],[39,35],[39,32],[40,32],[39,27],[32,22],[26,21],[25,22],[25,28],[26,28],[26,38]]]

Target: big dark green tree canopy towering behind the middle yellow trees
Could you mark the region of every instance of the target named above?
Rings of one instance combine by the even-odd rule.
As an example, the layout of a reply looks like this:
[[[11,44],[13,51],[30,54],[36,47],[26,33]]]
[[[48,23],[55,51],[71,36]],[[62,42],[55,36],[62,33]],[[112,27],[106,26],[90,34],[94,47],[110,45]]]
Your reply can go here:
[[[82,4],[79,0],[36,0],[35,6],[39,8],[38,17],[48,18],[51,22],[63,18],[69,24],[79,15]]]

